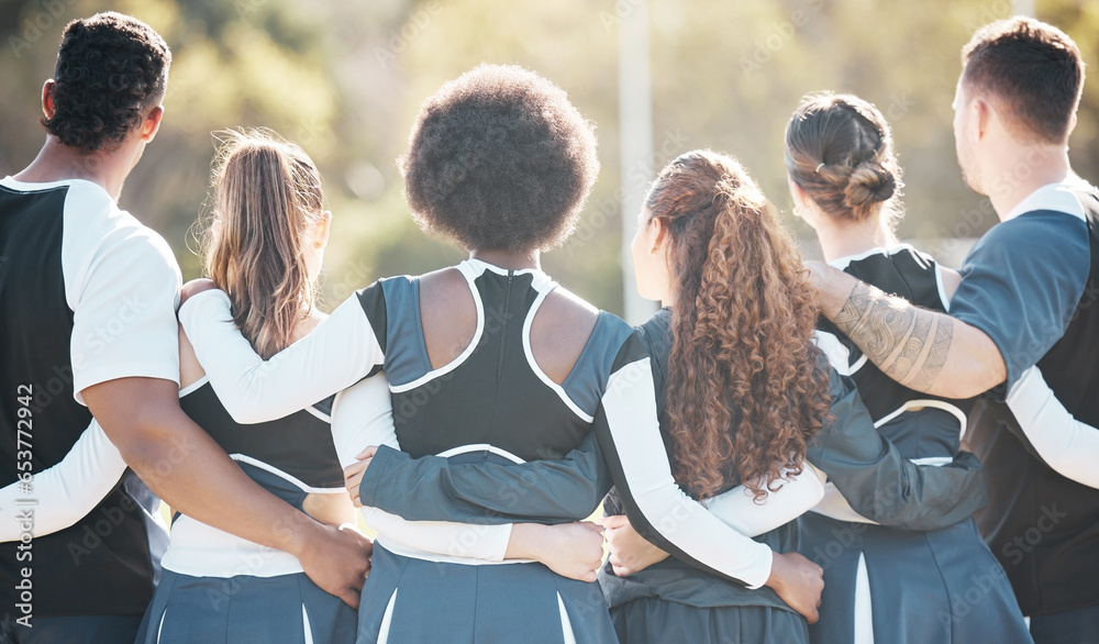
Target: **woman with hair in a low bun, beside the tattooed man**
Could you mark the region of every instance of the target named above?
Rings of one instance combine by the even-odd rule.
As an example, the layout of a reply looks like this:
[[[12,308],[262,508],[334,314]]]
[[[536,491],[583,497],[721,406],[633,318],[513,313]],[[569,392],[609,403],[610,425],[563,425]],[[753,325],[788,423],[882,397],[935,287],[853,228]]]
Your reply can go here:
[[[893,235],[901,170],[873,104],[826,93],[803,99],[787,127],[786,167],[795,212],[817,231],[829,264],[920,307],[948,310],[958,274]],[[972,401],[897,384],[821,320],[823,346],[856,382],[878,431],[915,463],[955,459]],[[852,510],[852,500],[829,488],[801,520],[799,549],[824,567],[813,642],[1031,641],[973,519],[928,532],[896,530]],[[843,547],[835,547],[837,534],[850,536]]]

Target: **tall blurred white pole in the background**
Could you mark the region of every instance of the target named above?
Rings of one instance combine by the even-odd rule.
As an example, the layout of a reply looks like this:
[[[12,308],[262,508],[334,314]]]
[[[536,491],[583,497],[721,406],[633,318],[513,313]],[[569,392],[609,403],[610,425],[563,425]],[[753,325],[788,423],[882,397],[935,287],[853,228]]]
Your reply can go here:
[[[622,195],[622,290],[625,321],[640,324],[656,304],[637,295],[630,242],[637,213],[653,179],[653,88],[648,66],[647,0],[620,2],[619,23],[619,148]]]

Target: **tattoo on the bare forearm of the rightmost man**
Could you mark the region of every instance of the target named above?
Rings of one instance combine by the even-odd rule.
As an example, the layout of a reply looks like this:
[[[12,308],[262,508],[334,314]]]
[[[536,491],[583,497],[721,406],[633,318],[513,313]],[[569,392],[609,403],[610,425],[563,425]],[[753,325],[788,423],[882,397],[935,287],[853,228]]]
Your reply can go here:
[[[931,387],[946,364],[954,333],[953,320],[862,282],[852,289],[834,323],[886,375],[920,390]]]

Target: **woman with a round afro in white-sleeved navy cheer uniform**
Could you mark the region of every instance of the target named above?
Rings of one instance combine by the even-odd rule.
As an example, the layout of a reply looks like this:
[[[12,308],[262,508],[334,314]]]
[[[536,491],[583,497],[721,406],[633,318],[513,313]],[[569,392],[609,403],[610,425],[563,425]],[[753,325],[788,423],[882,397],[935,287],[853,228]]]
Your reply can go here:
[[[391,400],[347,390],[333,410],[333,432],[345,435],[392,404],[396,436],[362,431],[345,469],[367,522],[384,511],[480,524],[443,553],[375,524],[358,642],[617,642],[592,584],[600,529],[575,523],[612,480],[668,552],[740,585],[774,586],[791,603],[815,601],[815,565],[773,553],[676,485],[634,330],[542,271],[542,252],[571,232],[599,168],[593,127],[565,91],[518,66],[477,67],[424,101],[398,163],[413,218],[468,259],[381,279],[267,359],[234,327],[226,293],[198,292],[179,312],[241,422],[382,370]],[[743,488],[726,495],[730,515],[768,511]]]

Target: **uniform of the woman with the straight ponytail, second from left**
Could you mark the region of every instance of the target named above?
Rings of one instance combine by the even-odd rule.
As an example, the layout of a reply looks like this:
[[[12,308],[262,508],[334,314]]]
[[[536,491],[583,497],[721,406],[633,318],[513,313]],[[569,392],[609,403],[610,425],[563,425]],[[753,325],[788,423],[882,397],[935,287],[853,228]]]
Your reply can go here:
[[[180,391],[180,407],[264,489],[302,510],[308,495],[345,495],[330,429],[332,399],[273,421],[233,421],[207,378]],[[164,570],[140,644],[344,643],[355,611],[314,585],[292,555],[185,514],[171,525]]]

